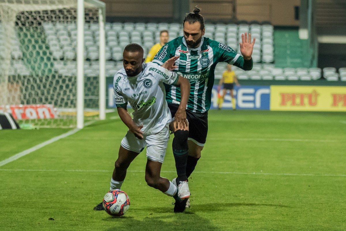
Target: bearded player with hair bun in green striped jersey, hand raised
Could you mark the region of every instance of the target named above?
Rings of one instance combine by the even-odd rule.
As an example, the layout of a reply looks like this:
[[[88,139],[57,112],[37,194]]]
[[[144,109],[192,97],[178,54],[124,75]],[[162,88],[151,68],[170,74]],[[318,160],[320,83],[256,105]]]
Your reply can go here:
[[[242,34],[240,52],[237,54],[229,46],[214,41],[204,35],[204,19],[200,9],[186,14],[183,22],[184,36],[177,37],[164,45],[154,57],[153,62],[162,65],[166,60],[180,56],[176,61],[175,72],[187,78],[191,84],[190,97],[186,106],[188,129],[176,129],[174,122],[170,129],[174,132],[173,155],[177,178],[183,196],[190,195],[188,177],[191,175],[206,142],[208,132],[208,110],[211,104],[211,90],[214,84],[214,71],[218,62],[227,62],[243,70],[251,70],[251,58],[255,38],[251,34]],[[180,88],[166,86],[166,100],[174,116],[181,99]]]

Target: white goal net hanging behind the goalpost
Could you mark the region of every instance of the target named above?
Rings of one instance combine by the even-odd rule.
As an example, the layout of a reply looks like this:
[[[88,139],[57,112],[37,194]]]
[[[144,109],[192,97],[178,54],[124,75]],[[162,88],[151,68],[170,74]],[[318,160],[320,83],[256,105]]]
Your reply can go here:
[[[83,121],[100,117],[105,92],[100,93],[99,84],[104,64],[99,20],[104,16],[94,3],[99,1],[83,3],[83,35],[78,33],[77,0],[0,0],[0,113],[12,113],[19,124],[75,127],[82,97]],[[84,59],[77,55],[80,41]],[[90,65],[90,60],[94,71],[79,79],[81,95],[77,63]]]

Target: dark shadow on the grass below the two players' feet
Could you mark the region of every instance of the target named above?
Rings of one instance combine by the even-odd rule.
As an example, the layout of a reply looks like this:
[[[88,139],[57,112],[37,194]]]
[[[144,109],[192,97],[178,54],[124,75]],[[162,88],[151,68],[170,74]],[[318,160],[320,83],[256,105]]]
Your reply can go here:
[[[211,212],[225,211],[231,207],[239,206],[272,206],[290,207],[281,204],[257,204],[257,203],[205,203],[193,204],[191,208],[186,208],[183,213],[174,213],[173,207],[146,207],[135,208],[122,217],[106,217],[106,222],[114,222],[112,230],[218,230],[218,227],[211,223],[215,219]],[[143,217],[143,212],[147,213]],[[196,214],[198,212],[198,214]],[[205,213],[205,215],[201,214]],[[138,217],[136,216],[138,214]],[[140,215],[139,215],[140,214]]]

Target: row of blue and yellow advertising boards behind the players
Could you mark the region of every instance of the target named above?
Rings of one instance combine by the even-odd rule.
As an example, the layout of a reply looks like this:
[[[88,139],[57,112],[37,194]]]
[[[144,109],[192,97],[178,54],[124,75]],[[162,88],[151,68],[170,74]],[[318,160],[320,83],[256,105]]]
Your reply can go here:
[[[116,108],[110,78],[107,83],[107,107]],[[236,86],[233,92],[236,98],[236,109],[346,112],[345,86],[269,85],[270,81],[265,83],[267,85]],[[218,108],[217,87],[218,85],[214,85],[212,89],[210,109]],[[222,109],[233,109],[229,93],[225,96]]]

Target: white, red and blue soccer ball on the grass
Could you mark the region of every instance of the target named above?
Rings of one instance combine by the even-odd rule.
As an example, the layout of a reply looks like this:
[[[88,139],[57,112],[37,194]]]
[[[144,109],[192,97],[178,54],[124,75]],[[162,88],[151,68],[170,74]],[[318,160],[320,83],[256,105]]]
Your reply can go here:
[[[130,207],[130,199],[120,189],[111,190],[103,197],[104,210],[111,216],[122,216]]]

